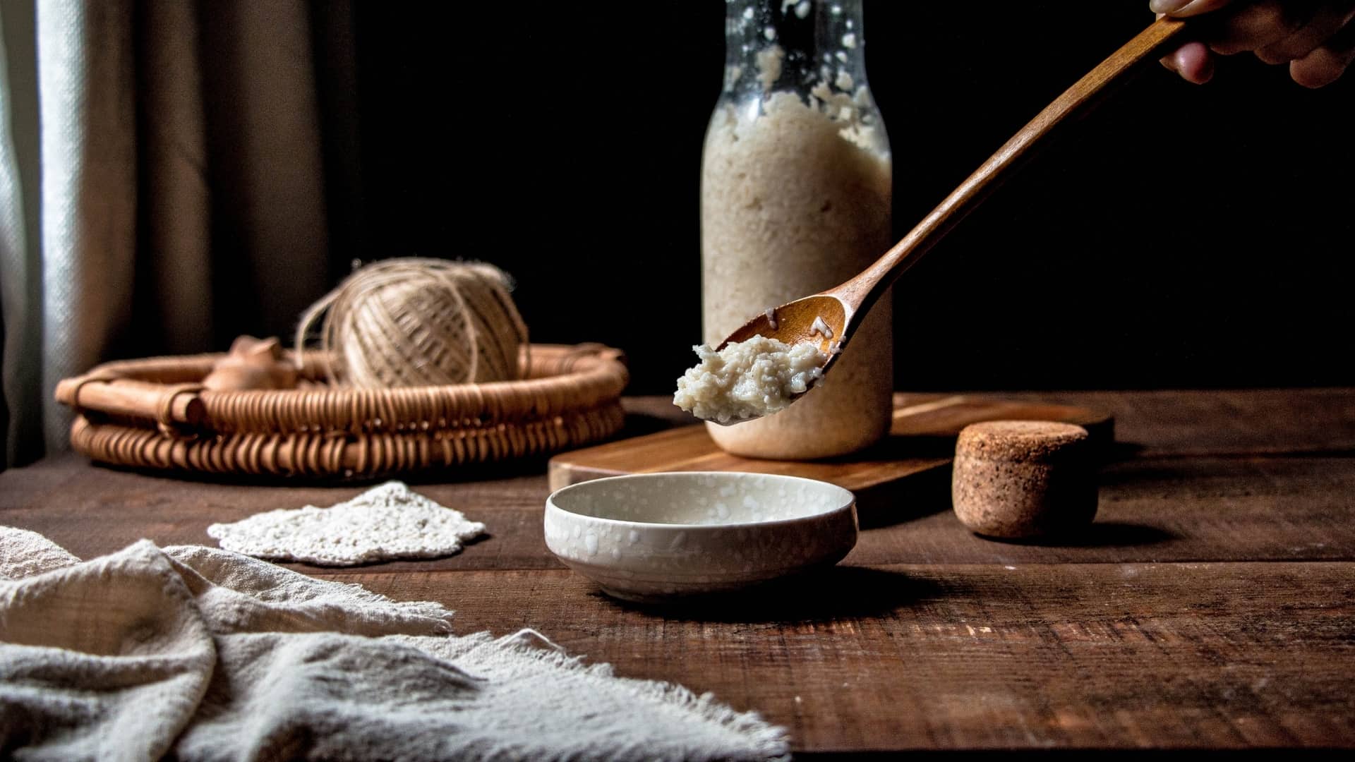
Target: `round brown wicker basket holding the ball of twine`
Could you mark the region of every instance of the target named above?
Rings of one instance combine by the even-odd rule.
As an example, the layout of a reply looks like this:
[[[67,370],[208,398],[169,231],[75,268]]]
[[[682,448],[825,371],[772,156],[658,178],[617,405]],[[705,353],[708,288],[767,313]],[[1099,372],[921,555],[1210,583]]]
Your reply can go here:
[[[213,392],[222,355],[110,362],[57,385],[75,449],[96,461],[188,473],[370,479],[537,456],[595,442],[625,419],[627,373],[600,344],[534,344],[527,378],[340,389],[304,355],[304,388]]]

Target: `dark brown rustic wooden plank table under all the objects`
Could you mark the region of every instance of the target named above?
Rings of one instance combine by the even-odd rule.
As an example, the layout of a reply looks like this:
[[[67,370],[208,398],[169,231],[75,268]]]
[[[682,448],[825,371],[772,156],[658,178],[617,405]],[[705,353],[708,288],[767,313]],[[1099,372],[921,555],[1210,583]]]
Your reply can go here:
[[[530,626],[622,675],[680,682],[790,728],[797,751],[1355,746],[1355,389],[1003,395],[1107,409],[1118,460],[1092,532],[966,532],[944,485],[877,506],[836,569],[737,606],[646,610],[541,534],[543,461],[419,489],[489,525],[436,561],[295,565],[459,632]],[[631,433],[671,426],[627,400]],[[356,487],[145,476],[65,456],[0,473],[0,522],[81,557]]]

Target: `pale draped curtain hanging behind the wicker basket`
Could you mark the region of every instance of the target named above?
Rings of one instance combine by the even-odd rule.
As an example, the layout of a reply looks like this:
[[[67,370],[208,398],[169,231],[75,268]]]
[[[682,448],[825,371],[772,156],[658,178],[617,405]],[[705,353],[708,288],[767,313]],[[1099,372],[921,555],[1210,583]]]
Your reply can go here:
[[[66,446],[61,378],[224,348],[232,316],[285,334],[325,292],[317,76],[352,69],[317,73],[314,30],[350,11],[0,0],[0,468]]]

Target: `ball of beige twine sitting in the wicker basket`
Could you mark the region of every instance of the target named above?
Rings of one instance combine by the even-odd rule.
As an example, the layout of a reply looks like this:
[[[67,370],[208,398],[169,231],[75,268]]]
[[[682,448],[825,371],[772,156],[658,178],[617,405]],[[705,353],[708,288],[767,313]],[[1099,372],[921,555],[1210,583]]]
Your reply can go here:
[[[297,357],[320,317],[332,384],[383,389],[520,378],[527,327],[492,264],[386,259],[362,267],[306,310]]]

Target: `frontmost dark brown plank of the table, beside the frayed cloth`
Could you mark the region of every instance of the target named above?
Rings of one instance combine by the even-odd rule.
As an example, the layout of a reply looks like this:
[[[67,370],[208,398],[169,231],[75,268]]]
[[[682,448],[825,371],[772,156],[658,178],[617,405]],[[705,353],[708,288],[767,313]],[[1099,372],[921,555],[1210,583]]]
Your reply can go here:
[[[333,579],[714,691],[798,748],[1355,743],[1351,563],[839,567],[657,611],[566,571]]]

